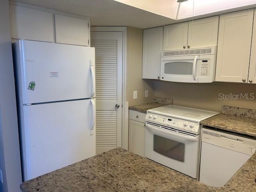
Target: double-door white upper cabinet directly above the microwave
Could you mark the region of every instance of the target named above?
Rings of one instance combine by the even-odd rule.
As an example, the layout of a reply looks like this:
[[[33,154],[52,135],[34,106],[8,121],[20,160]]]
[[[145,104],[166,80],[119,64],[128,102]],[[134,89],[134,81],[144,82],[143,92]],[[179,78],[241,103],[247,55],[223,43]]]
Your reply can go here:
[[[163,51],[217,46],[219,16],[164,26]]]

